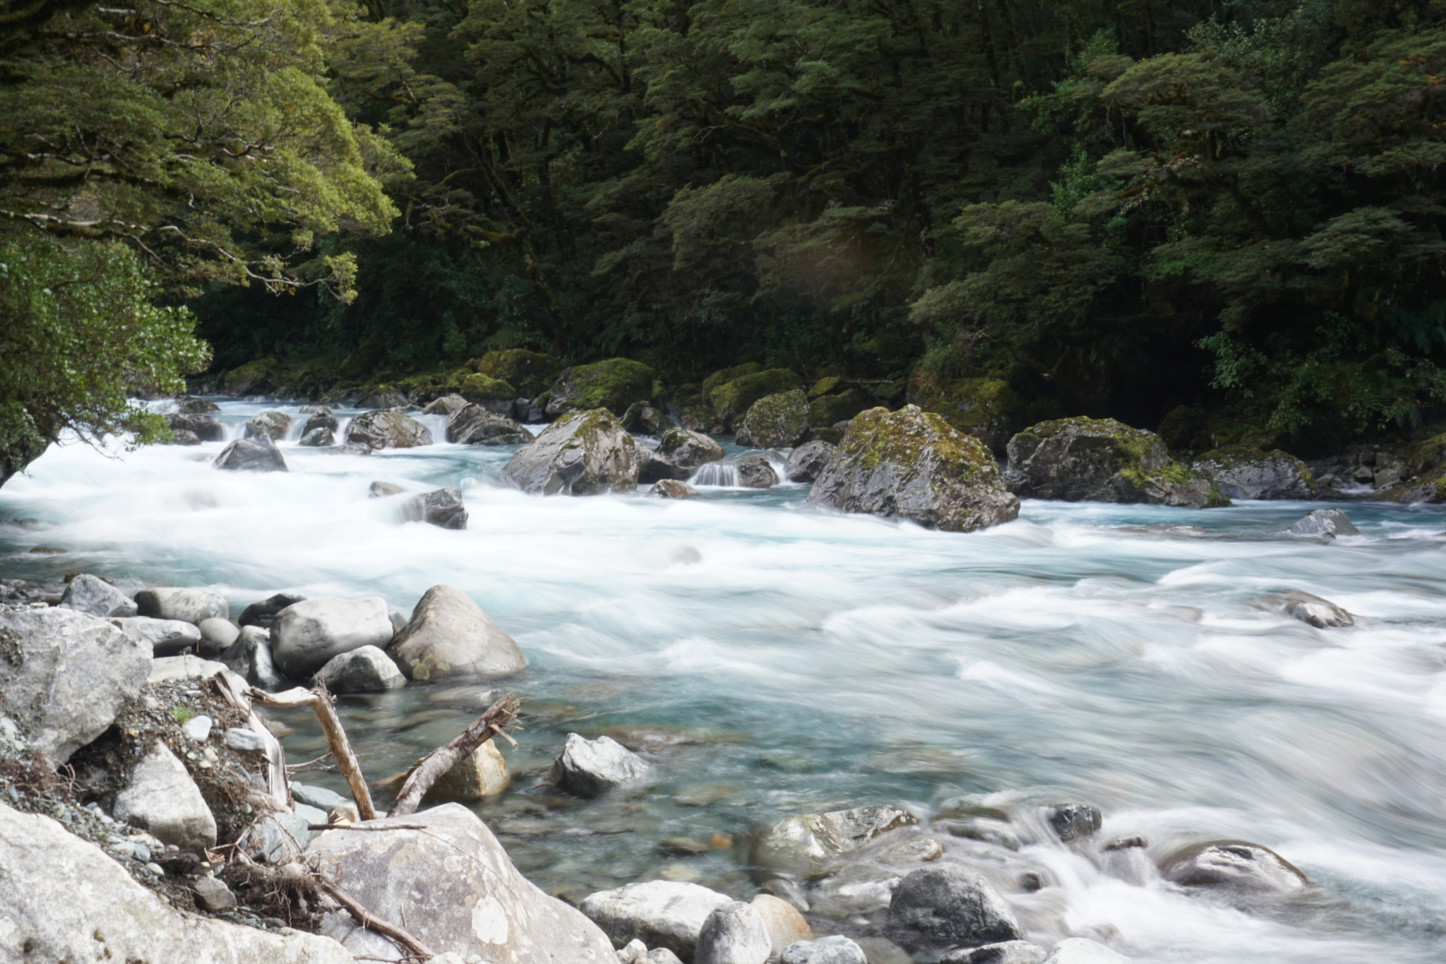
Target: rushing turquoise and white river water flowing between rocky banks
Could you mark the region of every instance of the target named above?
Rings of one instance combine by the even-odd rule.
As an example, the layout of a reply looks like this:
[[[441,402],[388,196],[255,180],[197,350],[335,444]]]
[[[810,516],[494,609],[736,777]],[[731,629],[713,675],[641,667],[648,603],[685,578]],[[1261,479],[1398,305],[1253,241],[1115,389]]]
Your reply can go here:
[[[224,416],[268,408],[295,415],[227,402]],[[36,520],[0,525],[4,575],[204,585],[237,611],[282,590],[403,611],[438,582],[467,591],[532,659],[508,684],[532,713],[515,791],[484,812],[544,886],[675,873],[658,840],[795,812],[1034,793],[1098,804],[1105,834],[1257,841],[1319,885],[1251,912],[1060,847],[1021,853],[1056,885],[1017,898],[1027,915],[1113,928],[1137,961],[1446,960],[1439,507],[1349,504],[1362,535],[1333,543],[1283,535],[1306,503],[1025,503],[1018,522],[951,535],[820,512],[803,486],[529,497],[495,484],[512,448],[362,457],[291,439],[289,473],[250,474],[211,468],[221,445],[52,448],[0,489],[0,517]],[[395,500],[367,499],[372,480],[458,486],[469,528],[403,525]],[[1144,529],[1161,522],[1205,533]],[[1291,588],[1356,624],[1251,606]],[[454,736],[479,689],[346,700],[367,773]],[[292,757],[317,756],[305,715],[286,721]],[[648,795],[578,805],[538,786],[564,733],[612,727],[659,747]],[[701,785],[716,799],[683,805]],[[544,809],[545,827],[528,822]],[[743,895],[737,860],[719,850],[688,873]]]

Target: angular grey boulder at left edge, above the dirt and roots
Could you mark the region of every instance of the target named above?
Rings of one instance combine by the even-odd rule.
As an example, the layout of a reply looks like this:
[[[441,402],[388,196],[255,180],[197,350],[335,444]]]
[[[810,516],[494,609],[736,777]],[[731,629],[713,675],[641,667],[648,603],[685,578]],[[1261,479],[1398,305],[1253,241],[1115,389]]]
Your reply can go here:
[[[0,705],[64,763],[116,720],[150,673],[150,647],[68,608],[0,610]]]

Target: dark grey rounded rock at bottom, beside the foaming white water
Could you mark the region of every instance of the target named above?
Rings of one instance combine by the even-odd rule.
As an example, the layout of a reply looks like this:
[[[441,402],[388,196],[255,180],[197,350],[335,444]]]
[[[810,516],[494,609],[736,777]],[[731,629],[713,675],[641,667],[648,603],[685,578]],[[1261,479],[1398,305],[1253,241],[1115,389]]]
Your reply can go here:
[[[894,890],[889,913],[940,944],[1024,939],[1014,912],[982,876],[957,864],[923,867]]]

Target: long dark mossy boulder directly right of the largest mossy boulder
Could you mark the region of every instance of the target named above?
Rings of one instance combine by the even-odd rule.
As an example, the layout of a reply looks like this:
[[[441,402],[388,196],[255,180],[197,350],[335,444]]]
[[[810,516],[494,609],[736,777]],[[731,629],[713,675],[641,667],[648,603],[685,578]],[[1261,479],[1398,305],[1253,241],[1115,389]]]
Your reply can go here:
[[[1115,419],[1040,422],[1009,439],[1009,490],[1024,499],[1212,509],[1231,500],[1170,458],[1154,432]]]

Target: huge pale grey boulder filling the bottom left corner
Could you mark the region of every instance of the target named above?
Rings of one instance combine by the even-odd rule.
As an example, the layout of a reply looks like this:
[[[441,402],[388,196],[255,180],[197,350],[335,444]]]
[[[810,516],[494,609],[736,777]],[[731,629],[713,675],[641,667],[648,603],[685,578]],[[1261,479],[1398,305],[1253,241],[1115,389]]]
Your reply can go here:
[[[4,961],[353,964],[331,938],[176,911],[94,844],[3,804],[0,893]]]

